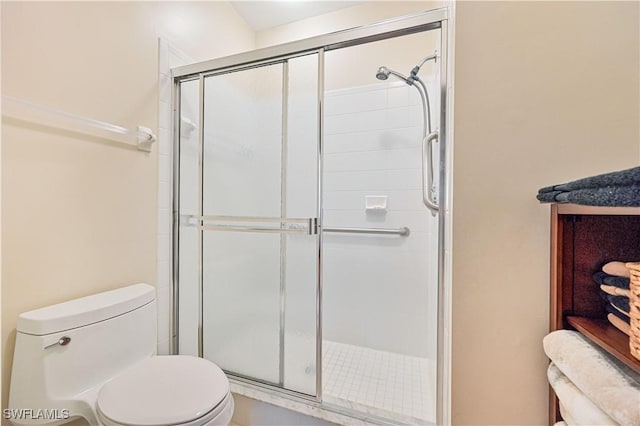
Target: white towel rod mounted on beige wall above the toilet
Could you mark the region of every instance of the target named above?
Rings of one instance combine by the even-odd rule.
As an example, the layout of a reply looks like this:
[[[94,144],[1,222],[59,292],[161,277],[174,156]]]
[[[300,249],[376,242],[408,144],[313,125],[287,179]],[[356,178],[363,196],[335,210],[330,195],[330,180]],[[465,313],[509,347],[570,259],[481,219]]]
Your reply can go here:
[[[80,124],[94,127],[101,130],[106,130],[113,133],[135,136],[137,138],[137,147],[141,151],[151,152],[151,145],[156,141],[156,135],[154,135],[151,132],[151,129],[147,127],[138,126],[136,130],[127,129],[126,127],[118,126],[117,124],[111,124],[104,121],[95,120],[93,118],[82,117],[80,115],[75,115],[65,111],[49,108],[33,102],[25,101],[23,99],[18,99],[12,96],[3,95],[2,108],[5,109],[6,106],[9,106],[9,105],[26,107],[36,111],[41,111],[57,117],[66,118],[76,123],[80,123]],[[4,115],[4,111],[3,111],[3,115]]]

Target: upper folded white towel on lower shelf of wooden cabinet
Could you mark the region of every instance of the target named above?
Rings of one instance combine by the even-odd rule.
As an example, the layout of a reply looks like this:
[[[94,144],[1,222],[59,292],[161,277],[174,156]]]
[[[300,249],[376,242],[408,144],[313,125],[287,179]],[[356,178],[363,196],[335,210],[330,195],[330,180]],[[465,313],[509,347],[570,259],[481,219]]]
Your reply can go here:
[[[554,331],[543,346],[556,367],[609,417],[640,426],[640,374],[575,331]]]

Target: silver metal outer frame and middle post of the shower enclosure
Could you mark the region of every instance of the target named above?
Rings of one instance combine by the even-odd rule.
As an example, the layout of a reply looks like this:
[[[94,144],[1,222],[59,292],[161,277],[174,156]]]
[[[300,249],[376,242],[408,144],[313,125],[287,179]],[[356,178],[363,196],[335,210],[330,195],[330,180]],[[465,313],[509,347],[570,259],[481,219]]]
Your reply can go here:
[[[249,383],[251,385],[260,386],[269,393],[277,395],[288,395],[292,398],[301,398],[308,402],[313,402],[321,406],[322,401],[322,159],[323,159],[323,114],[324,114],[324,52],[336,50],[344,47],[366,44],[369,42],[400,37],[404,35],[425,32],[440,29],[440,172],[439,172],[439,194],[440,194],[440,213],[438,220],[438,313],[437,313],[437,355],[436,355],[436,422],[440,424],[445,417],[443,413],[442,402],[445,394],[449,392],[448,375],[444,376],[442,367],[443,361],[448,359],[449,348],[445,347],[445,329],[448,330],[448,321],[445,319],[449,312],[445,310],[445,230],[447,229],[448,220],[448,173],[445,169],[449,153],[447,151],[448,142],[448,104],[447,104],[447,65],[449,62],[449,11],[446,8],[436,9],[404,17],[394,18],[379,23],[356,27],[344,31],[338,31],[327,35],[312,37],[277,46],[257,49],[245,53],[231,55],[223,58],[212,59],[195,64],[185,65],[173,68],[171,70],[173,78],[173,99],[174,99],[174,174],[173,174],[173,271],[172,271],[172,330],[171,330],[171,352],[176,353],[177,347],[177,331],[178,331],[178,242],[179,242],[179,161],[180,155],[179,140],[180,135],[180,83],[185,81],[200,80],[200,153],[202,154],[202,127],[204,125],[202,115],[202,105],[204,96],[204,77],[208,75],[227,73],[263,66],[271,63],[286,61],[289,58],[305,56],[309,54],[318,55],[318,212],[317,227],[318,247],[317,247],[317,292],[316,292],[316,396],[300,394],[294,391],[288,391],[284,388],[270,386],[260,382],[254,382],[237,378],[239,381]],[[202,195],[202,157],[199,159],[199,194]],[[201,203],[201,200],[199,201]],[[202,205],[199,206],[202,212]],[[202,238],[200,232],[200,239]],[[199,241],[201,242],[201,241]],[[201,250],[201,244],[200,244]],[[201,257],[200,253],[200,257]],[[200,269],[202,269],[202,259],[199,260]],[[201,274],[200,274],[201,277]],[[200,278],[201,279],[201,278]],[[202,298],[202,287],[200,286],[200,299]],[[200,300],[202,302],[202,300]],[[202,303],[199,306],[200,320],[202,315]],[[200,322],[200,326],[201,326]],[[446,328],[445,328],[446,327]],[[200,330],[201,331],[201,330]],[[200,340],[200,348],[202,342]],[[282,348],[281,348],[282,350]],[[448,400],[448,398],[447,398]],[[355,414],[355,413],[351,413]],[[357,417],[357,414],[356,414]]]

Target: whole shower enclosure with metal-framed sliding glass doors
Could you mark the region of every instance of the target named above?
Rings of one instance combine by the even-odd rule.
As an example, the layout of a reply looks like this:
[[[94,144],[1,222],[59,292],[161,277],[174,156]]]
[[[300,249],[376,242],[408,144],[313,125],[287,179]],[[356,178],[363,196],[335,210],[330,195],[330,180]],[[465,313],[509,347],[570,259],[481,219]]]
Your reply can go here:
[[[172,70],[175,353],[441,418],[446,36],[436,10]]]

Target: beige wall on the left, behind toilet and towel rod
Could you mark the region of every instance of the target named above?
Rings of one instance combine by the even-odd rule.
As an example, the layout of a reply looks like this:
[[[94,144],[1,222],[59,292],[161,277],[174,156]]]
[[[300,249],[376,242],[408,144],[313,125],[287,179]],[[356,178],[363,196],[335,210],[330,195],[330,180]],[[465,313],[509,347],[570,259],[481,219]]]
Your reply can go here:
[[[201,60],[254,47],[226,2],[2,2],[2,94],[157,133],[158,36]],[[155,284],[156,164],[3,117],[3,408],[20,312]]]

